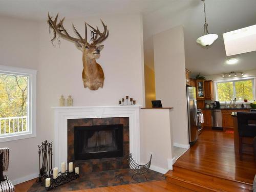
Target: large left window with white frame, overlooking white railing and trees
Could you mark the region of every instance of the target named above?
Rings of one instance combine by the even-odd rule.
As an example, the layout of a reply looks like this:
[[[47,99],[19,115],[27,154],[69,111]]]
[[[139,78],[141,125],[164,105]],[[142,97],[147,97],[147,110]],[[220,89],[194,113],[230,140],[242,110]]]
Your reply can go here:
[[[0,66],[0,142],[33,137],[36,71]]]

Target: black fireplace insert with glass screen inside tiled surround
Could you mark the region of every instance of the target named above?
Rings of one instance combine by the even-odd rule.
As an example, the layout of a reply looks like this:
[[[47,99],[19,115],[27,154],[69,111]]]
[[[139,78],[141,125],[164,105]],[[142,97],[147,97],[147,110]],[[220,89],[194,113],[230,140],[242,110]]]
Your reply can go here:
[[[123,156],[123,125],[74,127],[76,160]]]

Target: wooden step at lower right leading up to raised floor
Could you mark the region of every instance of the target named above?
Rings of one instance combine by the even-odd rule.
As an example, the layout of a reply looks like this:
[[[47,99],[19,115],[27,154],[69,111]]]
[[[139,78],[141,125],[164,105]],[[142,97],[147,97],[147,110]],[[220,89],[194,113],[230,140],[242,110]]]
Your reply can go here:
[[[252,191],[251,184],[245,184],[237,181],[231,181],[216,176],[209,176],[199,172],[194,172],[186,168],[174,166],[174,170],[169,170],[166,174],[166,180],[176,185],[191,190],[206,191]]]

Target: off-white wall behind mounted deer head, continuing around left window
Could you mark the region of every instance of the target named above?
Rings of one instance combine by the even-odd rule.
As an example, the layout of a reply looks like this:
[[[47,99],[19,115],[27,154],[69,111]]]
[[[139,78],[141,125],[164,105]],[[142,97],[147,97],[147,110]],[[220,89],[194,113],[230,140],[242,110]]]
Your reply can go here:
[[[143,34],[140,15],[116,15],[87,18],[92,26],[101,28],[102,18],[110,30],[102,43],[104,49],[97,60],[103,68],[103,89],[83,88],[81,79],[82,53],[72,42],[61,40],[60,49],[50,42],[46,22],[0,17],[0,65],[25,67],[37,73],[37,137],[0,143],[10,148],[10,167],[7,175],[14,183],[34,178],[38,174],[37,144],[54,139],[53,112],[61,94],[72,95],[74,106],[116,105],[129,95],[144,105]],[[84,20],[72,20],[84,34]],[[71,20],[65,21],[70,34]],[[57,41],[55,42],[57,45]],[[53,141],[54,143],[54,141]]]

